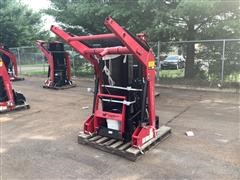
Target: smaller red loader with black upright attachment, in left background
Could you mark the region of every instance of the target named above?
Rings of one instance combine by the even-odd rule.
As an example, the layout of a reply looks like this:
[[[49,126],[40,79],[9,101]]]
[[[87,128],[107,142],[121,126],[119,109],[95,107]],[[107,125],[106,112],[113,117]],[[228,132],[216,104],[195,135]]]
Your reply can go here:
[[[71,62],[69,54],[64,50],[61,42],[46,43],[38,40],[37,47],[48,61],[48,79],[43,87],[50,89],[67,89],[75,87],[71,81]]]

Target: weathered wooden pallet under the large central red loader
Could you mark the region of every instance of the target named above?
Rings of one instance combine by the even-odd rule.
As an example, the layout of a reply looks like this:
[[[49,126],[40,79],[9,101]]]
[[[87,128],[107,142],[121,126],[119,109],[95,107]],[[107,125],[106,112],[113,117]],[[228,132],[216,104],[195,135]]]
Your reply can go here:
[[[87,135],[80,132],[78,135],[79,144],[87,144],[94,148],[100,149],[105,152],[116,154],[127,158],[131,161],[136,161],[150,148],[157,145],[161,140],[167,138],[171,134],[171,128],[167,126],[162,126],[157,130],[157,136],[154,139],[146,142],[141,149],[131,147],[131,142],[124,143],[116,139],[103,137],[99,135]]]

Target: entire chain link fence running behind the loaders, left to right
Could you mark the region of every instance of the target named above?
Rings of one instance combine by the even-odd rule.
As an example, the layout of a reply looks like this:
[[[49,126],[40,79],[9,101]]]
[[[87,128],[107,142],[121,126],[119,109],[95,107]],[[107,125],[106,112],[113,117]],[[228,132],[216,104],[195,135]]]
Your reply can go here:
[[[188,51],[188,47],[194,50]],[[151,42],[156,55],[156,79],[160,84],[185,84],[194,86],[231,86],[240,84],[240,39],[182,41],[182,42]],[[73,76],[92,76],[93,70],[84,58],[65,46],[72,63]],[[47,74],[48,64],[37,47],[10,48],[17,56],[18,67],[22,75]],[[185,65],[176,68],[163,68],[166,57],[179,55],[186,59],[192,53],[194,64],[193,76],[185,78]]]

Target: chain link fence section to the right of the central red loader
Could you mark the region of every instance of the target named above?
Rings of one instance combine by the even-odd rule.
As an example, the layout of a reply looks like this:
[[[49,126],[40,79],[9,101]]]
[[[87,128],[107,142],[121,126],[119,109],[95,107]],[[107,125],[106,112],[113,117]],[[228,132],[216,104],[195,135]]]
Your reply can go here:
[[[238,87],[240,84],[240,39],[156,42],[150,44],[157,57],[157,80],[164,84],[208,87]],[[194,47],[189,52],[189,47]],[[187,58],[194,63],[191,78],[186,78]],[[178,55],[185,68],[163,68],[166,57]]]

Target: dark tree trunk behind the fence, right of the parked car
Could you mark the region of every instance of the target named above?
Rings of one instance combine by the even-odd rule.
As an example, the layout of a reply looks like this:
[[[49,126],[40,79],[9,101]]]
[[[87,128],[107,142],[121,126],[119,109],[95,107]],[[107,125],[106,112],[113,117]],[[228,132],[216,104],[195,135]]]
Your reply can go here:
[[[195,30],[193,23],[188,24],[188,30],[186,32],[187,40],[195,39]],[[195,43],[187,43],[187,52],[186,52],[186,66],[185,66],[185,78],[194,78],[194,57],[195,57]]]

